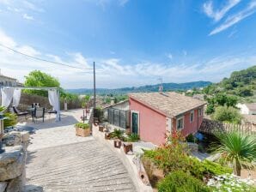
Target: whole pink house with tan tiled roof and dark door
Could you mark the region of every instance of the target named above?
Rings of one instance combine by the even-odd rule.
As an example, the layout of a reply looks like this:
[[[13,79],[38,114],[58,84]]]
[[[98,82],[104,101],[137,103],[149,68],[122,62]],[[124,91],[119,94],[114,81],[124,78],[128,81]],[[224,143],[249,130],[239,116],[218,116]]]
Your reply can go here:
[[[131,131],[143,141],[165,142],[167,131],[194,134],[203,121],[205,102],[180,93],[131,93]]]

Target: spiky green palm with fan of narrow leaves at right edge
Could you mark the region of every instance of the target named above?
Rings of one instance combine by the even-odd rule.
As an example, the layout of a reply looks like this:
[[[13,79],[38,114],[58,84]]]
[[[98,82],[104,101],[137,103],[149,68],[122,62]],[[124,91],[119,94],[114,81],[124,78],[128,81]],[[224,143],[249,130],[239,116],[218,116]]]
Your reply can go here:
[[[241,167],[251,168],[256,162],[256,136],[238,130],[216,133],[219,143],[213,149],[233,165],[234,173],[241,176]]]

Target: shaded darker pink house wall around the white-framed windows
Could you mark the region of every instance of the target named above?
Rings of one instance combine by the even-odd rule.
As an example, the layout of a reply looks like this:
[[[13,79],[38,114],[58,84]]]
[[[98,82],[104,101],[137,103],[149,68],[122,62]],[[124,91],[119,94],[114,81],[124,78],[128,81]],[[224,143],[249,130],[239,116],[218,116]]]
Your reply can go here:
[[[184,129],[181,130],[184,136],[196,133],[203,122],[203,116],[198,117],[198,109],[194,110],[194,120],[190,122],[190,112],[188,111],[184,114]],[[176,129],[176,119],[174,119],[174,129]]]

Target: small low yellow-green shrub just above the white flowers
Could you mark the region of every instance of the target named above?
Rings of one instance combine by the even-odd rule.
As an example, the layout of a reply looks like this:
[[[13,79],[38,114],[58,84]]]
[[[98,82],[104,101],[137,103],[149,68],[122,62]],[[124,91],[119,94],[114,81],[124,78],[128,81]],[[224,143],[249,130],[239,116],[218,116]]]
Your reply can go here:
[[[204,166],[205,172],[215,176],[232,173],[233,171],[227,166],[222,166],[209,160],[202,161],[202,165]]]

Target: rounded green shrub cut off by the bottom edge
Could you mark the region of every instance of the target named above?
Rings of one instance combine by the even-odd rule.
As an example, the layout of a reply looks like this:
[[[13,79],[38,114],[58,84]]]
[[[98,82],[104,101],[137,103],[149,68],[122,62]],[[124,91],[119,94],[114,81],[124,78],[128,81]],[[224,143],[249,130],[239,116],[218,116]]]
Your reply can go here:
[[[174,171],[158,183],[159,192],[207,192],[208,187],[184,171]]]

